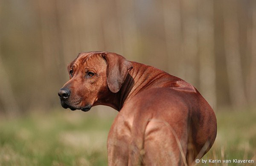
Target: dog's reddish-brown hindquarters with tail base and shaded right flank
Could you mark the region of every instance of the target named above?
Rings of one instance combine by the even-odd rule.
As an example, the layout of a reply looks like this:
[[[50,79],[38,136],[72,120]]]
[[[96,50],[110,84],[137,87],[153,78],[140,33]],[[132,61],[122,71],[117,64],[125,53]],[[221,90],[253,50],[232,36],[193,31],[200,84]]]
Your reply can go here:
[[[119,154],[112,155],[112,158],[114,157],[116,162],[122,160],[125,165],[131,166],[138,163],[145,165],[191,163],[189,157],[194,160],[204,143],[209,140],[209,135],[213,135],[214,132],[208,130],[208,133],[203,133],[207,128],[204,118],[210,121],[207,112],[211,110],[195,110],[195,107],[200,108],[196,102],[201,101],[201,98],[197,91],[184,92],[184,90],[163,87],[137,94],[124,105],[111,127],[108,143],[117,139],[116,142],[119,142],[120,146],[108,148],[109,154]],[[195,126],[195,123],[198,124]],[[214,123],[213,120],[210,128],[214,128]],[[201,128],[198,128],[198,125]],[[211,145],[214,139],[215,136],[210,138]],[[194,147],[192,149],[191,144]],[[121,153],[125,154],[121,155]],[[191,154],[193,156],[189,156]],[[117,159],[119,156],[125,157],[119,160]]]

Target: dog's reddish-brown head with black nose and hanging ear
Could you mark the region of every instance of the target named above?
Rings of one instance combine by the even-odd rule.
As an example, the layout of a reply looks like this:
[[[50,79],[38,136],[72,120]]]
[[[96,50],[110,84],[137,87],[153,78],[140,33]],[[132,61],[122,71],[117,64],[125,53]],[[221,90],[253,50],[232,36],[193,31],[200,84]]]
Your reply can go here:
[[[131,62],[116,53],[79,53],[67,67],[70,80],[58,92],[62,107],[90,110],[96,101],[120,90],[131,68]]]

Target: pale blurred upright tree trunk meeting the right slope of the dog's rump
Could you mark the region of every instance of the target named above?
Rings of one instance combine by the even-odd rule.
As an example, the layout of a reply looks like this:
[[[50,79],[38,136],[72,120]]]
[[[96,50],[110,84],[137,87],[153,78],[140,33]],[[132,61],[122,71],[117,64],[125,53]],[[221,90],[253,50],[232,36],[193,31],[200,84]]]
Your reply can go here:
[[[198,39],[200,64],[200,92],[215,108],[216,72],[214,58],[213,0],[200,0],[198,3]]]

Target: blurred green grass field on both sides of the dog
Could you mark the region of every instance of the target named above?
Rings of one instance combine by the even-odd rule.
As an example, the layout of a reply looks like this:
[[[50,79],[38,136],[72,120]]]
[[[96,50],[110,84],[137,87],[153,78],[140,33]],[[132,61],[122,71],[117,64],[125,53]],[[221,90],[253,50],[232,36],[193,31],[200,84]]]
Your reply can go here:
[[[108,130],[116,113],[100,117],[93,111],[62,109],[0,118],[0,165],[106,166]],[[256,160],[256,111],[219,110],[216,115],[217,139],[203,159]]]

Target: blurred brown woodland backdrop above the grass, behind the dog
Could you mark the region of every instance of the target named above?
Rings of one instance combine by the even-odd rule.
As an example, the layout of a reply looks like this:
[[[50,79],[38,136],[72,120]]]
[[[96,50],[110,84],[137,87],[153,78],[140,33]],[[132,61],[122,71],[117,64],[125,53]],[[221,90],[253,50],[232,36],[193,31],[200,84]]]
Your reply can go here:
[[[212,107],[256,100],[255,0],[0,3],[1,110],[12,110],[15,98],[12,107],[24,111],[60,107],[67,64],[97,50],[166,70]]]

